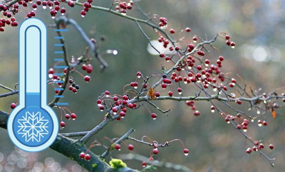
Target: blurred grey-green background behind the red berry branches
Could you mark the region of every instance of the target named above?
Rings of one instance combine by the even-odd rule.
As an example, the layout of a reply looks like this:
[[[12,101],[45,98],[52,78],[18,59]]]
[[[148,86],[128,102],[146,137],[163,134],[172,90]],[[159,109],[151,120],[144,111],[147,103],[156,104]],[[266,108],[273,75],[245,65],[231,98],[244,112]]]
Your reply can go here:
[[[92,5],[109,8],[111,3],[112,0],[94,0]],[[139,4],[150,16],[159,14],[168,19],[169,28],[176,31],[174,35],[171,35],[173,39],[177,39],[179,31],[186,27],[191,28],[191,32],[183,33],[181,36],[187,36],[189,39],[195,34],[204,39],[206,34],[208,40],[212,39],[217,32],[226,32],[230,35],[230,40],[236,44],[234,49],[228,47],[221,38],[213,45],[221,50],[221,55],[225,57],[222,72],[236,78],[241,84],[242,82],[236,74],[239,74],[247,85],[252,86],[254,90],[262,88],[261,92],[269,92],[285,85],[285,1],[142,0]],[[68,102],[69,105],[66,107],[72,113],[75,113],[77,118],[75,121],[64,120],[66,127],[59,131],[61,133],[91,130],[103,120],[106,114],[106,112],[100,112],[96,104],[97,97],[101,93],[109,90],[111,94],[121,95],[123,93],[122,88],[136,80],[138,71],[142,72],[144,76],[150,72],[161,73],[160,64],[163,62],[157,55],[154,56],[148,53],[148,42],[133,21],[93,9],[90,9],[87,15],[82,18],[80,6],[71,9],[66,5],[66,9],[68,17],[76,20],[85,32],[96,28],[92,37],[97,40],[100,52],[112,49],[117,50],[118,54],[116,56],[103,55],[103,58],[109,63],[109,67],[103,73],[97,70],[98,61],[92,60],[93,72],[90,74],[91,81],[89,83],[85,83],[78,73],[71,75],[81,89],[77,94],[66,90],[61,102]],[[48,9],[43,10],[39,6],[35,12],[36,17],[46,25],[54,24]],[[135,6],[132,10],[127,11],[127,15],[145,19],[136,10]],[[19,24],[24,20],[21,13],[18,13],[15,17]],[[157,40],[157,34],[152,28],[143,24],[141,26],[152,40]],[[18,29],[19,27],[12,28],[8,26],[5,27],[4,32],[0,33],[0,84],[10,88],[18,83]],[[71,56],[80,57],[84,53],[87,44],[73,27],[68,26],[67,29],[69,31],[64,33],[64,37],[69,58]],[[54,66],[54,58],[61,57],[54,54],[54,51],[60,50],[60,47],[54,47],[54,44],[59,43],[58,40],[54,39],[56,35],[54,29],[48,28],[48,68]],[[100,40],[102,36],[106,37],[105,41]],[[209,50],[212,52],[212,49],[209,48]],[[209,55],[209,59],[215,59],[213,53],[207,55]],[[217,58],[218,55],[216,54],[215,57]],[[77,70],[86,75],[80,67]],[[155,82],[157,80],[152,79],[149,85],[153,85]],[[141,84],[142,81],[139,80],[139,86]],[[181,87],[184,96],[193,96],[195,92],[199,91],[194,85],[182,84]],[[166,95],[169,90],[164,91],[158,86],[157,91],[161,95]],[[229,89],[229,92],[234,91],[234,88]],[[280,90],[278,93],[282,93],[282,91],[284,90]],[[0,88],[0,94],[6,92],[7,90]],[[238,95],[236,91],[235,93]],[[54,94],[54,87],[48,85],[48,102],[53,100]],[[179,94],[175,91],[174,95],[178,96]],[[204,94],[201,95],[204,96]],[[17,95],[1,98],[0,110],[10,113],[10,104],[17,101]],[[276,118],[273,118],[268,113],[262,117],[268,121],[267,126],[258,127],[257,120],[255,120],[250,122],[249,130],[246,133],[256,140],[266,140],[274,144],[275,148],[273,150],[269,149],[267,144],[263,149],[268,157],[276,158],[274,161],[275,167],[272,168],[263,156],[259,157],[258,152],[253,152],[250,155],[246,153],[245,138],[230,124],[227,124],[223,117],[216,112],[211,113],[209,102],[195,102],[196,110],[201,113],[198,117],[194,116],[191,108],[183,102],[167,100],[155,101],[154,103],[162,110],[171,109],[168,113],[170,117],[161,114],[150,105],[147,106],[150,111],[158,114],[156,120],[152,120],[145,107],[135,111],[128,110],[124,119],[119,122],[111,122],[92,139],[101,140],[102,137],[121,137],[130,128],[134,128],[136,131],[131,134],[131,137],[137,139],[148,136],[159,143],[165,143],[173,139],[183,141],[185,147],[189,149],[187,157],[183,154],[181,143],[174,142],[171,146],[160,149],[159,154],[154,156],[154,159],[182,164],[195,172],[207,172],[209,168],[213,168],[213,172],[284,171],[284,116],[277,115]],[[279,104],[281,105],[281,102]],[[235,112],[222,104],[217,103],[217,105],[228,114],[236,115]],[[231,105],[246,112],[250,107],[246,102],[241,106],[236,106],[235,103],[231,103]],[[60,111],[57,108],[54,108],[54,110],[60,118]],[[285,113],[285,110],[280,109],[278,112]],[[256,110],[252,110],[249,114],[257,115]],[[13,153],[14,145],[10,141],[6,130],[0,129],[0,136],[0,152],[2,152],[4,159],[7,159],[7,156]],[[109,144],[107,141],[105,142],[107,145]],[[149,156],[150,146],[132,141],[126,141],[125,143],[134,145],[134,153]],[[248,146],[252,147],[252,144],[248,143]],[[122,144],[121,147],[120,152],[113,152],[112,156],[114,158],[118,157],[118,154],[129,153],[126,146]],[[91,148],[91,151],[100,155],[105,150],[101,147],[94,147]],[[19,154],[19,150],[16,152],[14,151],[14,154]],[[57,164],[64,167],[68,172],[81,171],[80,167],[74,167],[75,162],[51,149],[37,153],[35,161],[48,166],[52,160],[47,160],[47,157],[52,157]],[[109,162],[109,158],[106,158],[106,161]],[[142,170],[141,161],[125,162],[130,168]],[[5,170],[5,163],[7,163],[5,160],[0,162],[2,171],[5,172],[7,169],[11,171],[9,168]],[[41,170],[48,172],[57,171],[58,169],[60,168]],[[60,170],[57,172],[60,172]],[[172,170],[159,168],[158,172],[172,172]]]

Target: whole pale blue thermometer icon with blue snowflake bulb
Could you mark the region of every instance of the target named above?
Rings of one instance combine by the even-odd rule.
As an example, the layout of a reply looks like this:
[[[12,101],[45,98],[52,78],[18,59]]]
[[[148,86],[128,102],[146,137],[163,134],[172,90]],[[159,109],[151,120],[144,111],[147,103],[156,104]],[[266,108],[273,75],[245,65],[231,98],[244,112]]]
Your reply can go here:
[[[38,152],[57,138],[58,119],[47,105],[47,29],[36,18],[19,30],[19,105],[7,125],[11,141],[20,149]]]

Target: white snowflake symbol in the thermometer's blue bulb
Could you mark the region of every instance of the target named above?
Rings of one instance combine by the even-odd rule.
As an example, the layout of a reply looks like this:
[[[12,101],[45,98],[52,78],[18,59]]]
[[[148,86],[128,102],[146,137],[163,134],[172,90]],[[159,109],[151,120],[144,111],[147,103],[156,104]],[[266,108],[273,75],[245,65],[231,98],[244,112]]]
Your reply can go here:
[[[38,115],[39,114],[39,115]],[[32,140],[32,142],[35,140],[37,142],[41,141],[41,137],[44,138],[44,134],[48,134],[49,132],[46,130],[48,128],[47,123],[49,123],[49,120],[43,119],[41,117],[41,113],[38,112],[34,115],[32,115],[29,112],[26,112],[25,115],[22,116],[23,119],[19,119],[18,122],[20,125],[20,130],[17,131],[18,134],[23,134],[22,137],[26,138],[26,142]],[[22,123],[21,123],[22,122]]]

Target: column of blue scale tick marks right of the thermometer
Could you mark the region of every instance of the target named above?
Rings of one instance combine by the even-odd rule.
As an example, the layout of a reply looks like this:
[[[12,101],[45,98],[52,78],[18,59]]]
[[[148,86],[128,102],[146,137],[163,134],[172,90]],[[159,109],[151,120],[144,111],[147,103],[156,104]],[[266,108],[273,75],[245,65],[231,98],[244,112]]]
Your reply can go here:
[[[68,29],[55,29],[55,31],[68,31]],[[63,36],[55,37],[55,39],[63,39]],[[64,46],[63,44],[55,44],[55,47],[61,47]],[[56,51],[55,54],[63,54],[62,51]],[[63,58],[55,58],[55,61],[63,61]],[[55,68],[68,68],[68,66],[55,66]],[[55,74],[56,76],[62,76],[63,74]],[[55,81],[55,83],[64,83],[63,81]],[[55,90],[63,90],[63,88],[55,88]],[[62,98],[63,95],[55,95],[55,98]],[[68,103],[55,103],[55,105],[68,105]]]

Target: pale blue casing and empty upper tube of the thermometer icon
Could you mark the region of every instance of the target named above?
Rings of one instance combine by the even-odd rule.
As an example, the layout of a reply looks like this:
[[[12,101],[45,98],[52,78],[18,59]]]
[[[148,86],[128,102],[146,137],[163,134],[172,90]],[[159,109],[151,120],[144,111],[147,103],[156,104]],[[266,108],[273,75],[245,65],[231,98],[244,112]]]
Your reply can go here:
[[[40,45],[34,45],[34,40],[38,40]],[[29,45],[27,46],[27,44]],[[32,44],[32,47],[30,44]],[[26,53],[29,55],[28,58]],[[40,56],[39,59],[37,55]],[[28,61],[27,64],[26,61]],[[37,62],[40,63],[40,66]],[[35,71],[40,72],[36,73]],[[40,95],[40,109],[44,109],[50,115],[53,123],[50,138],[39,146],[27,146],[20,143],[13,132],[14,118],[22,109],[28,106],[26,102],[27,95]],[[58,128],[57,115],[47,105],[47,28],[41,20],[30,18],[25,20],[19,29],[19,105],[9,115],[8,135],[11,141],[20,149],[28,152],[38,152],[54,143],[57,138]]]

